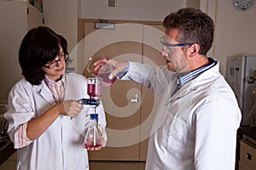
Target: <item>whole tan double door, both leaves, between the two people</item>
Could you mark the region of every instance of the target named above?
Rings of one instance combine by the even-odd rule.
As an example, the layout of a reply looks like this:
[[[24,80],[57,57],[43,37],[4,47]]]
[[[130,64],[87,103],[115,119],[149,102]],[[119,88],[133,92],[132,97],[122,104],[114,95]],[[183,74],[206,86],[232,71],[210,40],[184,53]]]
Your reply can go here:
[[[94,23],[85,23],[84,64],[94,54],[106,54],[109,58],[165,65],[159,41],[163,34],[160,25],[117,24],[114,29],[96,30]],[[133,81],[117,81],[102,91],[108,143],[102,150],[90,151],[90,160],[146,161],[160,96]],[[136,98],[137,102],[131,100]]]

